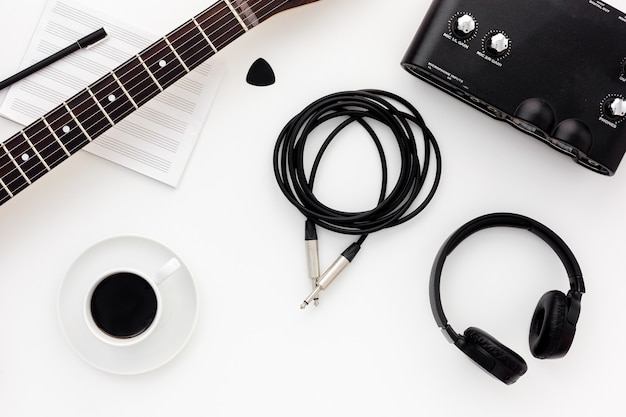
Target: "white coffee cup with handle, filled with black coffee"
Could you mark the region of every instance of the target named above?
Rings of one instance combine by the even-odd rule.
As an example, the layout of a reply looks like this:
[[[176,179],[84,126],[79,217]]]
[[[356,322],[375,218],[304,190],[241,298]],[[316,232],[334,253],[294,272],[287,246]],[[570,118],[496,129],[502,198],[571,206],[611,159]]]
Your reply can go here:
[[[180,269],[171,258],[156,272],[119,267],[102,274],[87,291],[83,314],[87,327],[112,346],[132,346],[152,334],[163,310],[159,286]]]

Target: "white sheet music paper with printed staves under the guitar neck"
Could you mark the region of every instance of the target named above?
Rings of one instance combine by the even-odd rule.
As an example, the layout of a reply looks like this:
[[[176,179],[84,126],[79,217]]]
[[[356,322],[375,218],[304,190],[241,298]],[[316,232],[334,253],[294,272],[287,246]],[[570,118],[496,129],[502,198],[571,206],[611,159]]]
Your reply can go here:
[[[158,37],[67,0],[47,3],[21,68],[104,27],[108,38],[11,86],[0,115],[23,125],[97,81]],[[176,187],[198,140],[224,65],[212,59],[140,107],[84,150]]]

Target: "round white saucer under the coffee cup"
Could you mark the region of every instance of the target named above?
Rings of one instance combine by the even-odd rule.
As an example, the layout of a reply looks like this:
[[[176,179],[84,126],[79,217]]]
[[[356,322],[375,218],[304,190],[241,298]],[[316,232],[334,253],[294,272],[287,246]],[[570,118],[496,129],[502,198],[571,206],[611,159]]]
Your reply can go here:
[[[180,260],[181,268],[160,286],[162,317],[146,340],[132,346],[111,346],[91,333],[83,316],[84,300],[103,272],[131,267],[149,273],[172,257]],[[96,243],[74,261],[59,291],[57,313],[63,334],[80,357],[103,371],[133,375],[164,365],[183,349],[198,317],[198,295],[193,277],[178,255],[150,239],[120,236]]]

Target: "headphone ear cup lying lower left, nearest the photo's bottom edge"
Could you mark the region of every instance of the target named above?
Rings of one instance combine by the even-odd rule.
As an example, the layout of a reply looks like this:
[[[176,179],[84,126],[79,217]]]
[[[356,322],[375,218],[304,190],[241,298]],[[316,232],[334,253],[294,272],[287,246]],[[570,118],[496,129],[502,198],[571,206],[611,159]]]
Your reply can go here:
[[[528,370],[517,353],[476,327],[465,330],[461,350],[491,375],[509,385]]]

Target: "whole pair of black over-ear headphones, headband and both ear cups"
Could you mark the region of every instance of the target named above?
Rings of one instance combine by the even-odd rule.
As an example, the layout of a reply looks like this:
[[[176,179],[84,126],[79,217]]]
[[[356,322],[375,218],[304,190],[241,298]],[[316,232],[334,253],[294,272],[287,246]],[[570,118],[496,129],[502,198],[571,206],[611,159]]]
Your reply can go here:
[[[477,365],[509,385],[526,372],[528,369],[526,362],[517,353],[481,329],[470,327],[463,335],[456,333],[448,324],[441,305],[441,271],[446,257],[464,239],[489,227],[527,229],[539,236],[556,252],[567,271],[570,282],[567,296],[561,291],[548,291],[539,300],[533,314],[529,343],[530,351],[536,358],[560,358],[569,350],[576,332],[585,284],[578,262],[565,242],[543,224],[519,214],[493,213],[478,217],[461,226],[445,241],[437,253],[430,274],[430,306],[435,321],[450,343],[454,343]]]

